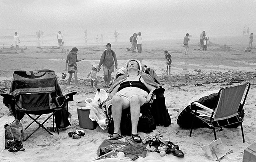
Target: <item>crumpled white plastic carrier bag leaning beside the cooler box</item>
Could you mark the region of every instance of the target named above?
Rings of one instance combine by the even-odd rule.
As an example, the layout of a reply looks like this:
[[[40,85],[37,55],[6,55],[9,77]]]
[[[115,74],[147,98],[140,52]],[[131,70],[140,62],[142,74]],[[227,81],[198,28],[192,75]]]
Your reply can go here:
[[[93,100],[92,98],[86,98],[84,102],[91,108],[89,118],[92,121],[96,120],[101,129],[107,129],[109,120],[105,112],[98,105],[97,101]]]

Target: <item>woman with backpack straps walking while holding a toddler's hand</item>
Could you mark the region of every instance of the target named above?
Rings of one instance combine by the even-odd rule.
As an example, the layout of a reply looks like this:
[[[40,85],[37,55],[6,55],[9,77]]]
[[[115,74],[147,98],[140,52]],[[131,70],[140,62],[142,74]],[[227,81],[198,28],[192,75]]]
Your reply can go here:
[[[117,69],[117,56],[115,52],[111,50],[111,44],[107,43],[107,49],[101,55],[100,63],[98,65],[98,72],[100,71],[100,67],[102,65],[104,72],[104,87],[109,87],[109,83],[111,81],[111,74],[114,72],[114,67]]]

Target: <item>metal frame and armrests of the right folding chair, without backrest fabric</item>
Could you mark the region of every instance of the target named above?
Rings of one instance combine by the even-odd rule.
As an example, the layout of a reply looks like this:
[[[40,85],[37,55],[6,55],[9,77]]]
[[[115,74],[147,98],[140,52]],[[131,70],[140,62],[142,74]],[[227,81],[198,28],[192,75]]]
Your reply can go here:
[[[244,106],[244,104],[245,104],[245,100],[246,100],[246,98],[247,98],[247,95],[248,95],[248,92],[249,92],[251,83],[250,83],[250,82],[247,82],[247,85],[248,85],[248,87],[247,87],[247,91],[246,91],[246,93],[245,93],[245,97],[243,98],[242,109],[243,109],[243,106]],[[202,105],[202,104],[199,103],[198,101],[195,101],[195,102],[191,103],[191,109],[192,109],[192,110],[195,109],[195,111],[194,111],[194,112],[191,111],[191,113],[194,115],[194,117],[193,117],[191,129],[190,129],[190,135],[189,135],[190,137],[191,137],[191,134],[192,134],[192,131],[193,131],[194,121],[195,121],[196,118],[199,118],[200,120],[202,120],[202,122],[206,123],[206,124],[209,126],[210,129],[213,129],[213,133],[214,133],[215,140],[217,139],[217,137],[216,137],[216,131],[215,131],[216,128],[220,128],[220,131],[221,131],[224,126],[230,126],[230,125],[234,125],[234,124],[240,124],[240,126],[241,126],[241,131],[242,131],[242,137],[243,137],[243,143],[245,142],[245,137],[244,137],[244,134],[243,134],[243,125],[242,125],[243,118],[240,117],[240,116],[241,116],[241,112],[239,112],[239,114],[238,114],[237,116],[232,117],[233,119],[234,119],[234,118],[237,119],[237,122],[234,122],[234,123],[230,123],[229,120],[230,120],[231,118],[227,118],[227,119],[226,119],[226,123],[227,123],[227,124],[220,125],[220,123],[219,123],[218,121],[215,121],[214,118],[213,118],[213,114],[214,114],[215,109],[216,109],[216,107],[217,107],[217,105],[218,105],[218,100],[220,99],[220,94],[221,94],[221,91],[222,91],[223,89],[224,89],[224,87],[222,87],[222,88],[219,90],[219,92],[218,92],[218,97],[217,97],[217,100],[215,101],[215,106],[214,106],[213,109],[210,109],[210,108],[208,108],[208,107]],[[212,115],[210,116],[210,119],[206,119],[206,118],[199,117],[199,116],[197,115],[197,114],[198,114],[198,113],[197,113],[198,107],[200,107],[200,108],[202,108],[202,109],[206,109],[206,110],[212,112]]]

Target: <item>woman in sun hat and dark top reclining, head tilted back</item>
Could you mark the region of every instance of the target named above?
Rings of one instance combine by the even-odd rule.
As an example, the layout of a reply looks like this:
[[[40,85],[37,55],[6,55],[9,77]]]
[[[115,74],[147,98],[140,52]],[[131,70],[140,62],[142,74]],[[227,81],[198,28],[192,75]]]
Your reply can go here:
[[[108,136],[110,140],[120,139],[120,123],[122,110],[131,108],[131,138],[135,142],[141,142],[137,134],[140,107],[152,97],[152,92],[160,85],[153,81],[146,73],[141,73],[141,62],[137,59],[130,59],[126,62],[128,73],[119,76],[107,90],[112,98],[112,115],[114,120],[114,133]]]

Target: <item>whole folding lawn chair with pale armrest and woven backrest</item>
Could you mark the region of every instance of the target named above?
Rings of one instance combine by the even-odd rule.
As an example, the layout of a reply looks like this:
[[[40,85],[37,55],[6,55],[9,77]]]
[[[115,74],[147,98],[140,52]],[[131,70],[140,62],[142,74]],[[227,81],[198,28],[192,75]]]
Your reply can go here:
[[[242,126],[243,118],[240,117],[241,113],[238,113],[238,109],[242,99],[242,107],[240,108],[243,108],[250,86],[250,82],[244,82],[222,87],[218,92],[218,99],[216,100],[213,109],[202,105],[198,101],[191,103],[191,107],[194,107],[195,110],[191,112],[194,115],[194,118],[190,136],[192,134],[194,120],[195,118],[198,118],[202,120],[202,122],[207,123],[210,129],[213,129],[215,140],[217,139],[215,128],[220,128],[222,130],[225,126],[240,124],[244,143],[245,139]]]

